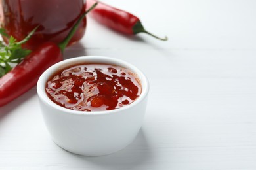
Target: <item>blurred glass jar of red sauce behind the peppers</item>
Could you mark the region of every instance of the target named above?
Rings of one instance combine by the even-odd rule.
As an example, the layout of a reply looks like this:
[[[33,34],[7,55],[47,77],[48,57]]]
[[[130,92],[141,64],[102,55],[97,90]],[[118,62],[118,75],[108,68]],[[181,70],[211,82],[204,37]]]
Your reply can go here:
[[[24,47],[34,49],[43,42],[61,42],[85,12],[85,0],[2,0],[1,27],[20,41],[35,27],[37,31]],[[79,25],[70,44],[79,41],[86,28],[86,18]],[[3,37],[5,41],[7,39]]]

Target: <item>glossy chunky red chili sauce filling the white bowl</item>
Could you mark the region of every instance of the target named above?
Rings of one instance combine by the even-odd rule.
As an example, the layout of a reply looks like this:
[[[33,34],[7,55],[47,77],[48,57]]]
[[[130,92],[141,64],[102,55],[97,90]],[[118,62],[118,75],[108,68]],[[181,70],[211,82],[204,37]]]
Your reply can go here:
[[[55,73],[45,88],[49,98],[72,110],[114,110],[133,103],[141,93],[136,73],[116,65],[86,63]]]

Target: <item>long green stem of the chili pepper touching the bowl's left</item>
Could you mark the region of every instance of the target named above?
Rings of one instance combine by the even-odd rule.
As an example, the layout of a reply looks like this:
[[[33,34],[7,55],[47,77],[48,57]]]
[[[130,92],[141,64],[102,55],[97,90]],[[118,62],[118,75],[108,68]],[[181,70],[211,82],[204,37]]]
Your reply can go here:
[[[81,15],[77,22],[75,22],[75,25],[72,27],[72,29],[70,30],[70,32],[68,33],[67,37],[62,41],[60,42],[60,44],[58,44],[58,46],[60,47],[60,50],[63,52],[64,49],[66,48],[66,46],[68,45],[68,42],[70,42],[70,39],[72,39],[73,35],[75,34],[75,31],[77,30],[77,27],[79,26],[80,22],[83,20],[83,18],[86,16],[86,14],[88,14],[91,10],[93,10],[96,5],[98,3],[94,3],[90,9],[88,9],[85,13],[83,13],[83,15]]]

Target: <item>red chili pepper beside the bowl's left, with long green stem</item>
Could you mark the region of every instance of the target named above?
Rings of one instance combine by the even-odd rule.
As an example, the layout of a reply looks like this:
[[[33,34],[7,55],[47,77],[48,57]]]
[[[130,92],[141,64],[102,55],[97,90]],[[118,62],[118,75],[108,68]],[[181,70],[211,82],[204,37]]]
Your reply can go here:
[[[74,35],[83,17],[96,6],[96,3],[85,12],[60,44],[46,42],[26,56],[22,62],[9,73],[0,78],[0,106],[3,106],[16,97],[35,86],[39,76],[51,65],[63,59],[62,52]]]

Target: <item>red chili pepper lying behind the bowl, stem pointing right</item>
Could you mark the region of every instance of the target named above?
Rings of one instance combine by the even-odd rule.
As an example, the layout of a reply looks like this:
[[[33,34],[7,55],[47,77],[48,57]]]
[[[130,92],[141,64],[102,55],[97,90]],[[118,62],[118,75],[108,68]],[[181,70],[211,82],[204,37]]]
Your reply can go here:
[[[87,0],[87,5],[90,7],[95,2],[95,0]],[[156,39],[167,41],[167,37],[162,39],[146,31],[137,16],[134,16],[133,14],[124,10],[111,7],[110,5],[102,2],[98,3],[97,7],[92,10],[91,16],[93,16],[93,18],[95,18],[95,20],[98,22],[121,33],[126,33],[129,35],[147,33]]]

